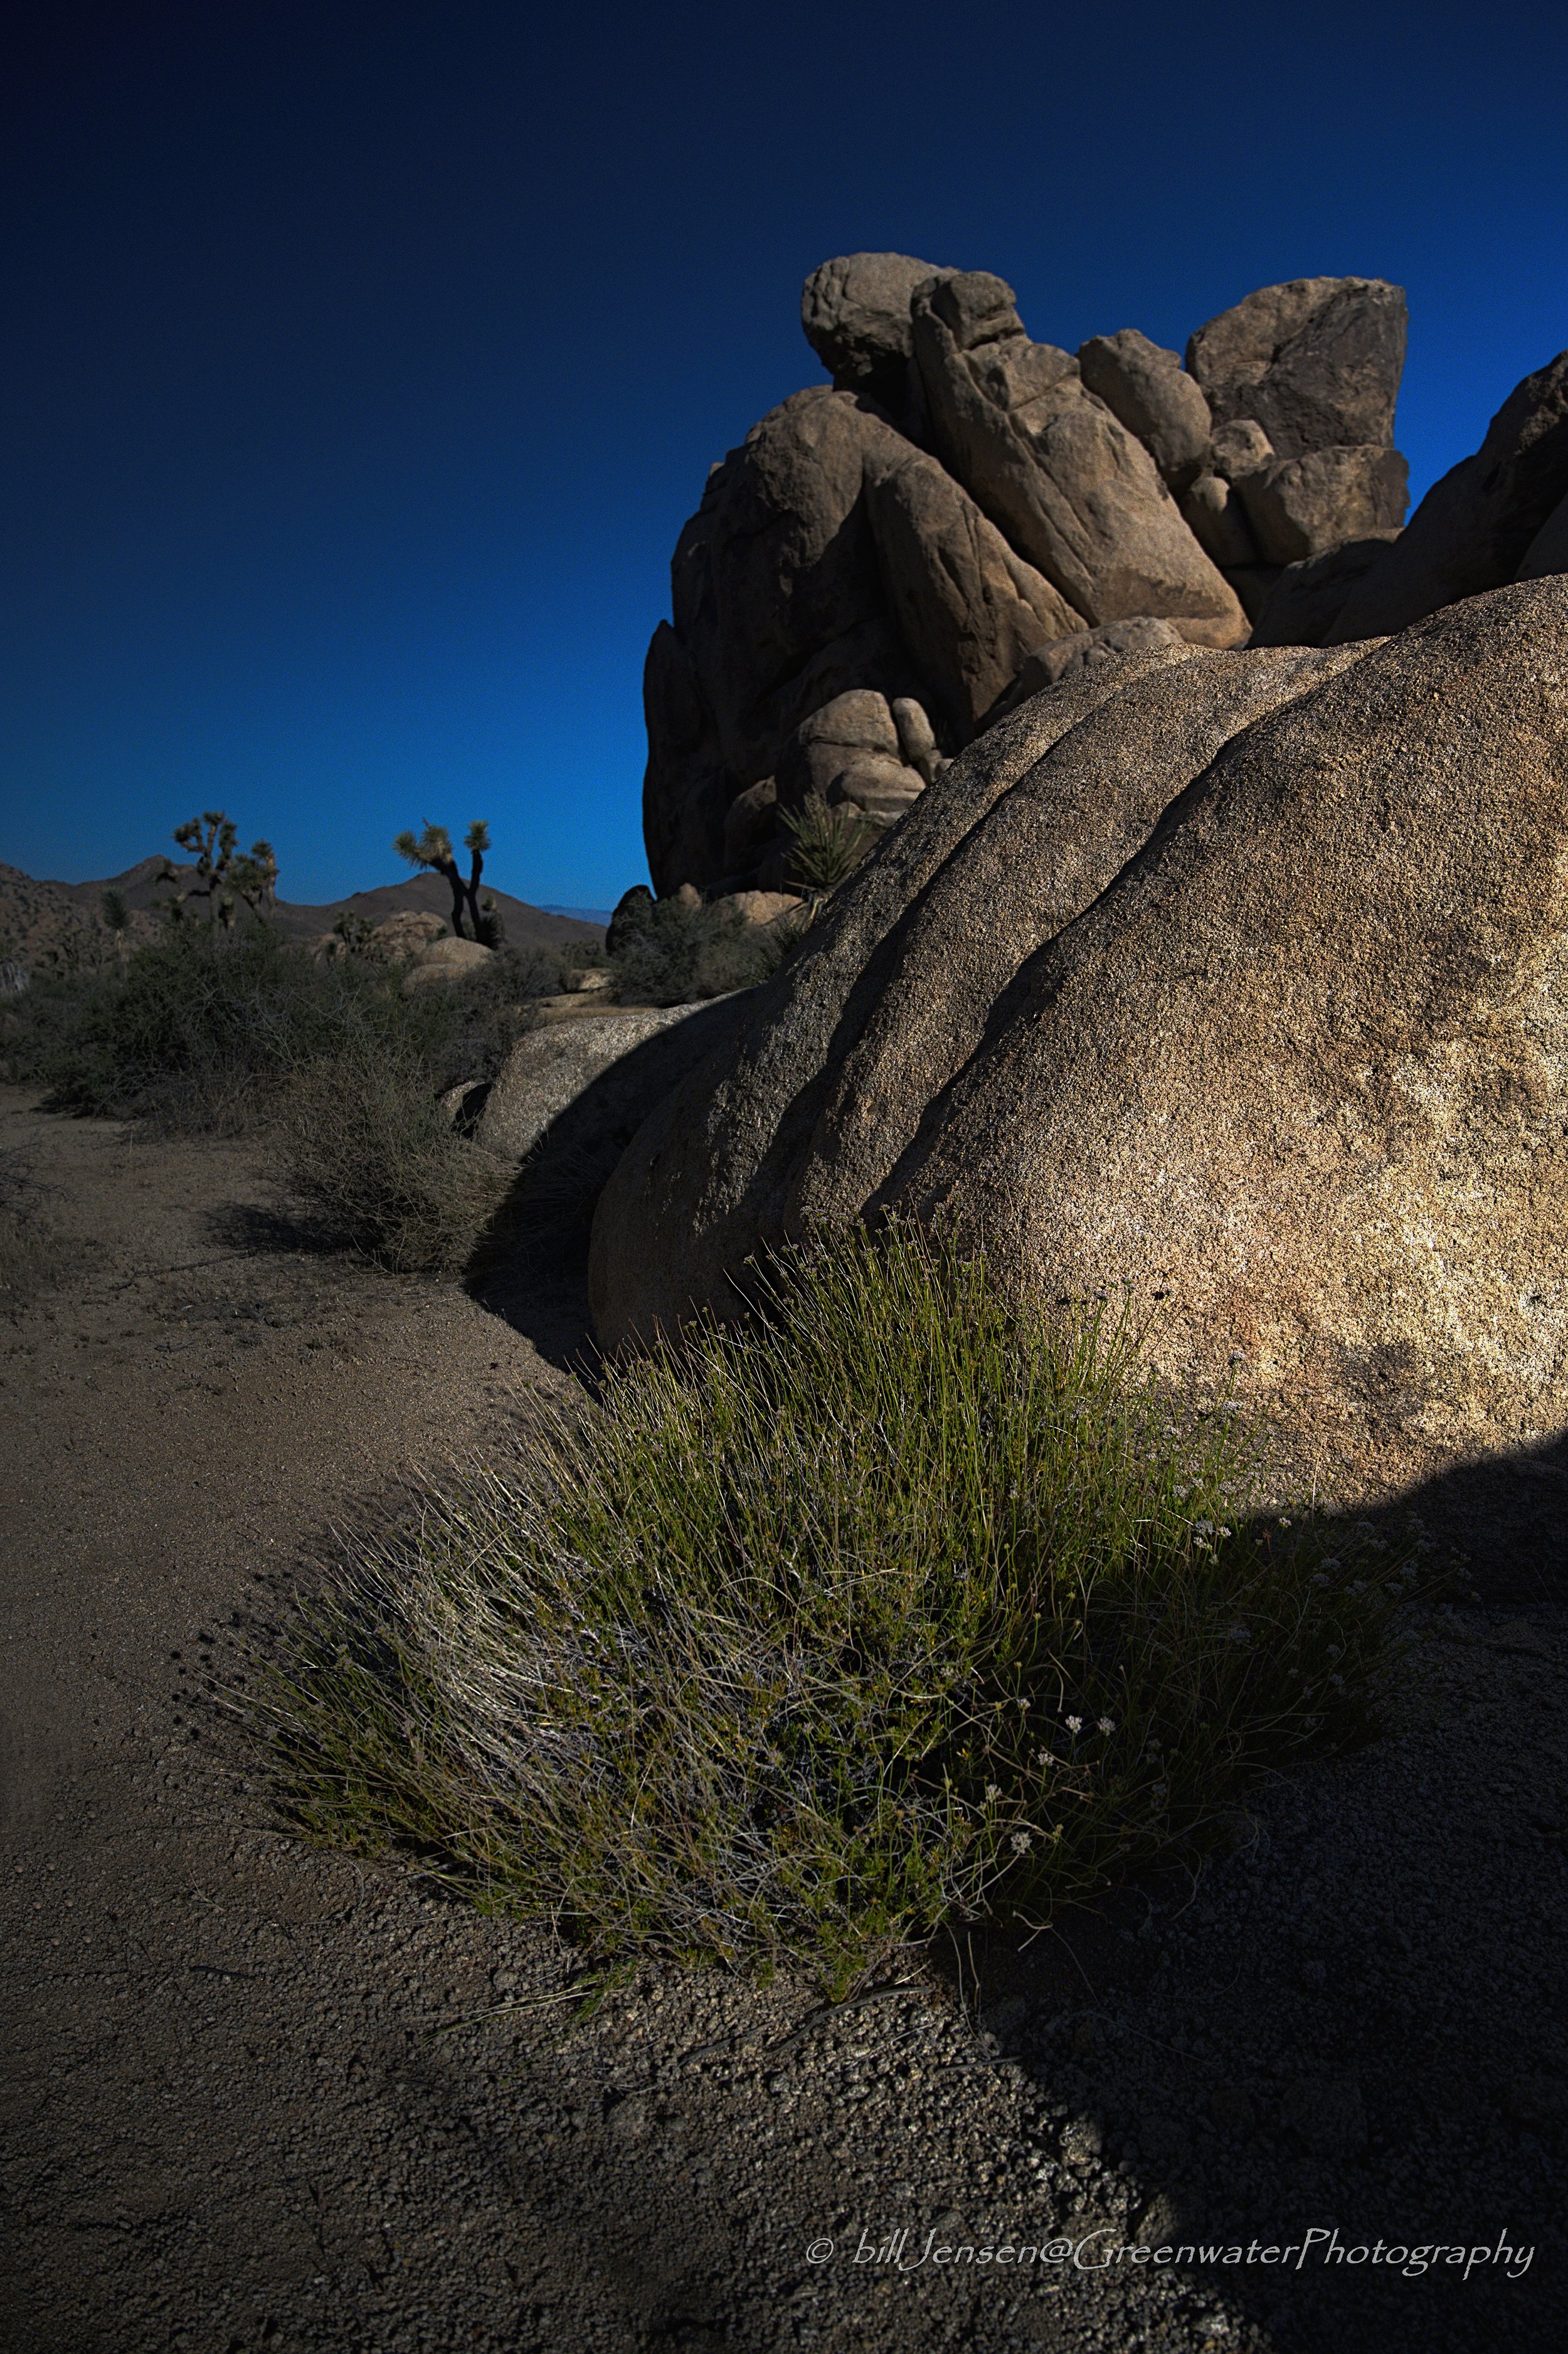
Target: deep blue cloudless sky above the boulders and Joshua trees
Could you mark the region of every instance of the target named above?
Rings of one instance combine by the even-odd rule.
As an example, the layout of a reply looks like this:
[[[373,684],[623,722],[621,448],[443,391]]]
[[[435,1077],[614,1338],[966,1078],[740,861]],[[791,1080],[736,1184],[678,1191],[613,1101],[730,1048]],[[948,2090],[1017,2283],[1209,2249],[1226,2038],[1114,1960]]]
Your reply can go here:
[[[290,899],[487,817],[643,878],[640,664],[800,278],[1001,271],[1069,348],[1410,292],[1413,487],[1568,344],[1568,16],[1363,5],[33,9],[5,82],[0,859],[221,803]]]

